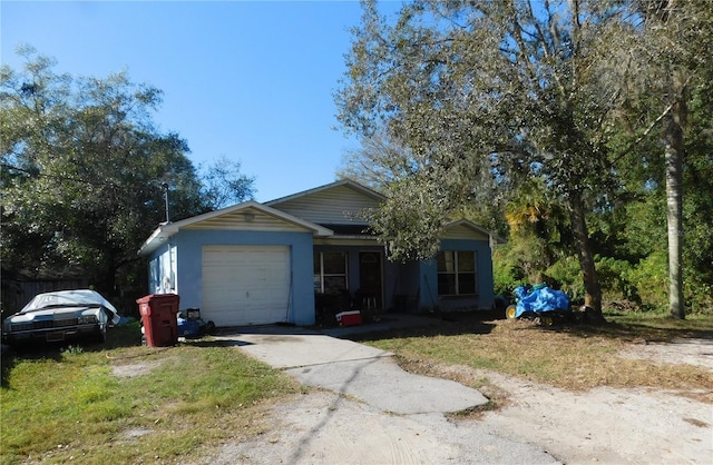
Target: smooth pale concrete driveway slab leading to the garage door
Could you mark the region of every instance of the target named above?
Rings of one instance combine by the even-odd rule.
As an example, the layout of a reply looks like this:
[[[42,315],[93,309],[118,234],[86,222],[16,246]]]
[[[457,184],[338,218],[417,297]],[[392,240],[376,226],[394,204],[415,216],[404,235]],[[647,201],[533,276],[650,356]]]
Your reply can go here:
[[[332,335],[266,326],[224,330],[216,338],[234,342],[247,354],[283,369],[304,385],[348,394],[384,412],[449,413],[488,402],[478,390],[458,383],[402,370],[391,353],[336,337],[382,326],[335,328]]]

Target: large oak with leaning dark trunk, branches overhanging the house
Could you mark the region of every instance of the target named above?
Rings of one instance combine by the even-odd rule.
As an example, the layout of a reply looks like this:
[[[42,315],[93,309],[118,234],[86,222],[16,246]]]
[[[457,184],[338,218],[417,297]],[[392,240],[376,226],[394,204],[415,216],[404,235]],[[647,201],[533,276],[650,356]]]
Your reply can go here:
[[[387,128],[422,160],[372,218],[392,253],[431,256],[484,176],[540,177],[567,206],[600,316],[586,215],[609,187],[619,83],[600,80],[622,9],[603,1],[413,1],[389,22],[363,3],[335,100],[348,131]],[[481,200],[482,201],[482,200]]]

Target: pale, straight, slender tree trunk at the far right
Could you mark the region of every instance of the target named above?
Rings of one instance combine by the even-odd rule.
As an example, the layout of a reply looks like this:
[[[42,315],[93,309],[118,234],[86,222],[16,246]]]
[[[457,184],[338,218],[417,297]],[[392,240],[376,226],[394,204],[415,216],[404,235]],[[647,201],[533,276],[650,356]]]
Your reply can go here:
[[[666,210],[668,231],[668,309],[674,318],[685,318],[683,300],[683,129],[686,103],[680,99],[666,117]]]

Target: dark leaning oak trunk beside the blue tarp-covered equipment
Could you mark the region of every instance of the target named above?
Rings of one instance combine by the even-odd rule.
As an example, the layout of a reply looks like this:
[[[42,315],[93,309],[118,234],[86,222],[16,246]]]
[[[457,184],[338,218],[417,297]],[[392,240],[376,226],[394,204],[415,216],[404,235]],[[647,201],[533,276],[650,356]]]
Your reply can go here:
[[[584,279],[584,305],[586,318],[593,323],[604,323],[602,315],[602,289],[594,265],[594,254],[589,244],[584,201],[577,192],[569,194],[569,218],[577,241],[579,269]]]

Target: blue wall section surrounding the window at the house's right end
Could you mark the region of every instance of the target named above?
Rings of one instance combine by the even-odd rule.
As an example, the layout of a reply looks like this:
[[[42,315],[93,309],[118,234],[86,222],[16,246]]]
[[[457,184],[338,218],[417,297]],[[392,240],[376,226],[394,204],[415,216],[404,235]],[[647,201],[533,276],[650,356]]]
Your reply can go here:
[[[489,309],[494,304],[494,279],[490,246],[484,240],[445,239],[441,250],[475,250],[478,294],[476,296],[440,297],[438,295],[438,264],[436,259],[421,264],[421,309],[441,310]]]

